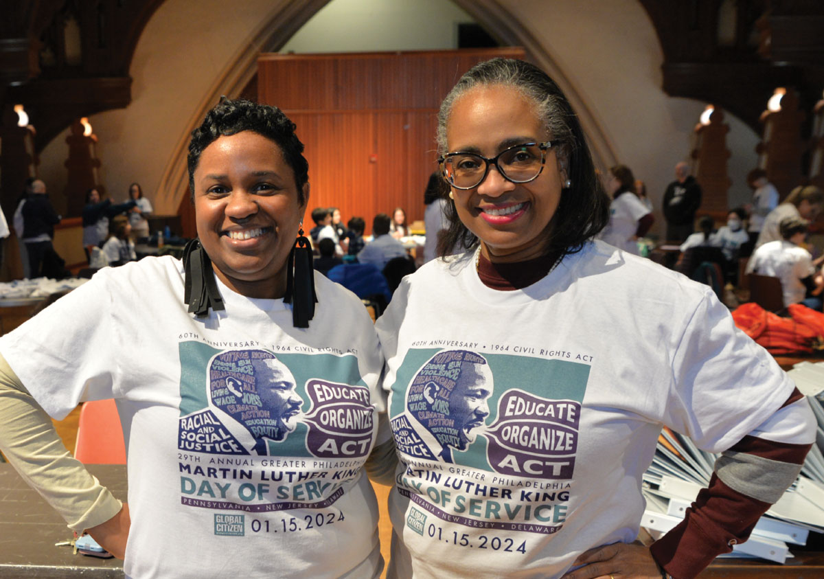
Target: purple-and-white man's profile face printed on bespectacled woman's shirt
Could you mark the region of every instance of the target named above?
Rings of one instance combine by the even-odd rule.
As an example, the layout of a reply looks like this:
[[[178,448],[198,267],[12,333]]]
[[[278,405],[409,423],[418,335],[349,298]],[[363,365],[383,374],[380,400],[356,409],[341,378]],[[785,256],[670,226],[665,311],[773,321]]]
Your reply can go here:
[[[492,394],[492,373],[489,366],[464,362],[461,377],[449,396],[449,417],[458,430],[458,450],[475,441],[473,429],[483,426],[489,416],[487,399]]]

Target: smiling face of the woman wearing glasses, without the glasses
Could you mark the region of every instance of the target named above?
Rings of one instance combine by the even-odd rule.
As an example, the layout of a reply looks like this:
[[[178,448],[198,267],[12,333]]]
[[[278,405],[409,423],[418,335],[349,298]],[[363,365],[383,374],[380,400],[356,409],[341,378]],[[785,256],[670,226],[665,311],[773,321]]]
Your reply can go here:
[[[506,148],[550,140],[535,104],[513,87],[471,89],[459,97],[447,121],[450,152],[493,158]],[[541,257],[548,246],[550,221],[558,209],[566,177],[555,147],[545,153],[541,174],[528,183],[504,179],[489,167],[474,189],[452,188],[458,218],[480,239],[491,261],[524,261]]]

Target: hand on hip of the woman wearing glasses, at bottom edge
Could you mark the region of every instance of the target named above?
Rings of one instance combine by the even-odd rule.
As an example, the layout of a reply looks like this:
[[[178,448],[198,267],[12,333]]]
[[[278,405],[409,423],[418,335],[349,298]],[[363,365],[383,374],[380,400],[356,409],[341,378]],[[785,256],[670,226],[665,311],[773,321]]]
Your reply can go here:
[[[583,565],[564,575],[564,579],[661,579],[658,563],[649,548],[640,543],[614,543],[584,551],[574,566]]]

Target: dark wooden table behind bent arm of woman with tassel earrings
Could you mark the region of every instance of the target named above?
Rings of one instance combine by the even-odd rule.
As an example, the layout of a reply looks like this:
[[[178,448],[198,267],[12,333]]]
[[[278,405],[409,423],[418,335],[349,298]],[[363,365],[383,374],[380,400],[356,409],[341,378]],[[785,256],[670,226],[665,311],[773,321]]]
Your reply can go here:
[[[126,467],[91,464],[89,471],[125,500]],[[73,554],[71,547],[55,547],[72,538],[65,521],[32,490],[10,464],[0,464],[0,577],[124,577],[123,561]]]

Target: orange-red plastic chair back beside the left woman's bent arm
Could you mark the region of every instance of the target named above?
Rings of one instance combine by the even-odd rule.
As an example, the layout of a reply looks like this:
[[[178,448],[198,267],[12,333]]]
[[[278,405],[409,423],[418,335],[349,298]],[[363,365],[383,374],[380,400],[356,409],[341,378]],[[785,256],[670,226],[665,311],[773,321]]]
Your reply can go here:
[[[83,464],[126,464],[126,445],[115,401],[84,402],[74,458]]]

